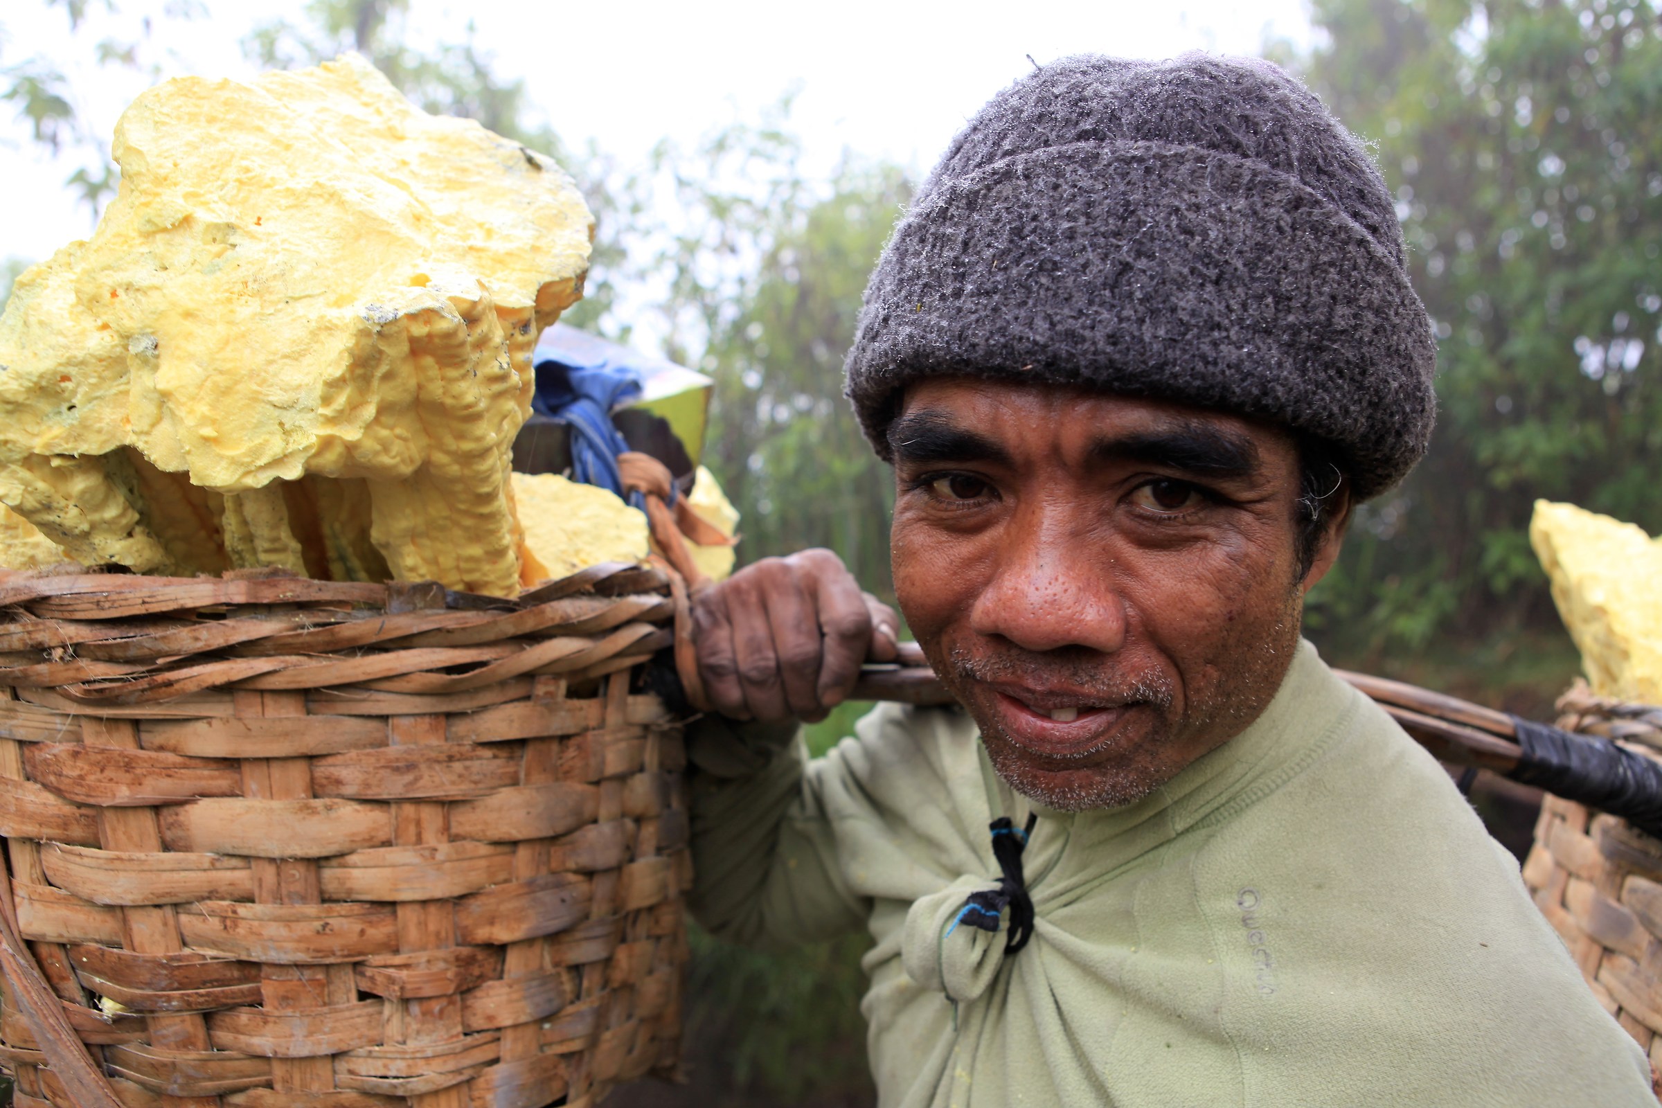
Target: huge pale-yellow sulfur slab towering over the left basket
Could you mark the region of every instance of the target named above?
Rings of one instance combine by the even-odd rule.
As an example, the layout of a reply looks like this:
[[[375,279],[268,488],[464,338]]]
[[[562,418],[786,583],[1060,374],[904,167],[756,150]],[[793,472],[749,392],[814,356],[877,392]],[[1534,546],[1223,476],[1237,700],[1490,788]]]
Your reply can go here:
[[[570,178],[357,56],[166,81],[113,150],[91,239],[0,317],[0,502],[90,565],[515,591],[530,351],[593,231]]]

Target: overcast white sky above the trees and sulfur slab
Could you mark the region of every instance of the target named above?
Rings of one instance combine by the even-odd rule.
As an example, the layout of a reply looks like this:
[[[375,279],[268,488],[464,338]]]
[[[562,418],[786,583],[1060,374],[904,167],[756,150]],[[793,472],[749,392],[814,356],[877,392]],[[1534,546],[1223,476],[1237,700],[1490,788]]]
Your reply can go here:
[[[239,40],[256,22],[299,3],[206,0],[206,17],[170,18],[176,0],[115,0],[93,8],[76,35],[61,7],[0,3],[0,63],[42,53],[73,81],[80,111],[108,141],[115,120],[148,76],[96,66],[103,38],[140,38],[163,75],[246,78]],[[524,76],[532,101],[572,145],[593,136],[630,164],[663,136],[691,143],[733,118],[753,120],[799,88],[794,126],[811,169],[843,150],[924,171],[992,93],[1027,71],[1025,55],[1170,56],[1183,50],[1255,53],[1266,35],[1306,45],[1303,0],[959,0],[834,5],[510,3],[412,0],[411,42],[460,40],[474,20],[497,71]],[[68,156],[40,153],[27,126],[0,105],[0,257],[43,259],[91,229],[65,189]]]

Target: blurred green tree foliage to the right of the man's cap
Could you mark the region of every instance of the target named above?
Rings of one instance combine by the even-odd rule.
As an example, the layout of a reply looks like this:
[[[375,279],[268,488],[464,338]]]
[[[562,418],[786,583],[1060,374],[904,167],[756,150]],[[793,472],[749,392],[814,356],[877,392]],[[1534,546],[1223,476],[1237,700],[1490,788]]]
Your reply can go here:
[[[1436,319],[1439,425],[1313,595],[1421,648],[1549,621],[1537,497],[1662,530],[1662,23],[1650,0],[1316,0],[1311,86],[1374,141]]]

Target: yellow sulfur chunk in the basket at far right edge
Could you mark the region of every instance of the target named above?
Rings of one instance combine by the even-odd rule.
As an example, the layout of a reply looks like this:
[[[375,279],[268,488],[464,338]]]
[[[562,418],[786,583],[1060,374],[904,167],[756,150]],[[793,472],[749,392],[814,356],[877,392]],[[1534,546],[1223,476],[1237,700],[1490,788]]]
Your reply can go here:
[[[1592,691],[1662,704],[1662,542],[1571,503],[1536,502],[1529,542]]]

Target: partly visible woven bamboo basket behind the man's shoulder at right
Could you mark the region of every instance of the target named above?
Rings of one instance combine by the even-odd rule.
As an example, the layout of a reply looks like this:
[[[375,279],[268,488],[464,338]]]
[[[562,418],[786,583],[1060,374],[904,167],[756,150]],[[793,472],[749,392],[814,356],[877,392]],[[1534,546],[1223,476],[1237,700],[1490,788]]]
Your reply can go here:
[[[1662,761],[1662,708],[1604,699],[1577,681],[1559,711],[1566,731]],[[1662,1070],[1662,841],[1549,794],[1524,884],[1599,1002]]]

